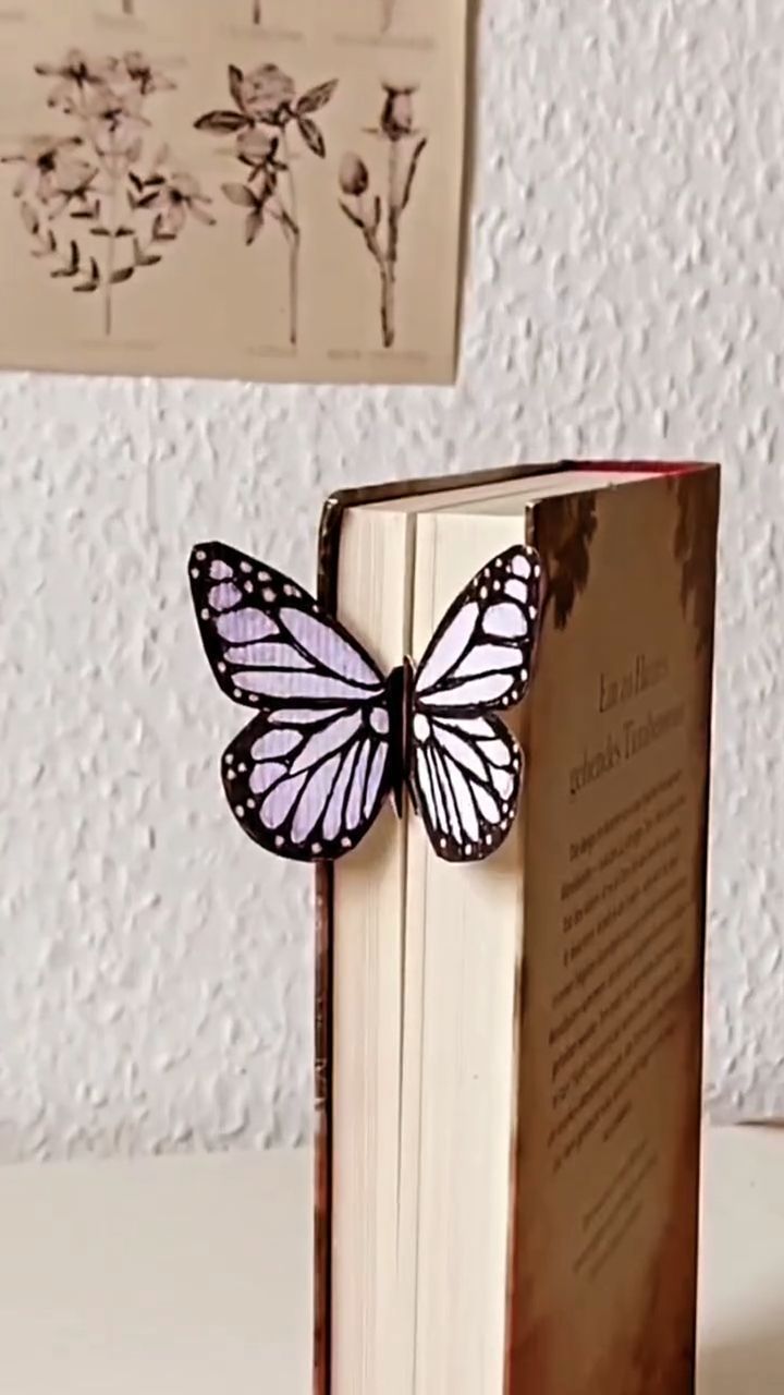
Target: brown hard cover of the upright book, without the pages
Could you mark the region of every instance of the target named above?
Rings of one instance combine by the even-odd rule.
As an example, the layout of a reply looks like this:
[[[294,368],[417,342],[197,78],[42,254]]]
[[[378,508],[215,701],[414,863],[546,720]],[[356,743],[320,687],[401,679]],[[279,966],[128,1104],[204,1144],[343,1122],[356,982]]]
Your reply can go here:
[[[547,591],[523,717],[525,929],[499,1395],[688,1395],[718,470],[590,469],[607,470],[610,487],[543,498],[526,525]],[[656,477],[612,488],[628,469]],[[492,478],[332,499],[322,603],[335,603],[346,508]],[[315,1391],[339,1395],[329,1378],[328,865],[317,893]]]

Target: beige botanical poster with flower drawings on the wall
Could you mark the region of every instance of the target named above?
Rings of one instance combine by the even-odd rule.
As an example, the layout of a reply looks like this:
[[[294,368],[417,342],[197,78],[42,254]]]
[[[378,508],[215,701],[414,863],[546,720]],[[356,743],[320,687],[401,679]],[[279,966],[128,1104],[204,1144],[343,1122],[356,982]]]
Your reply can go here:
[[[0,367],[455,372],[467,0],[0,0]]]

